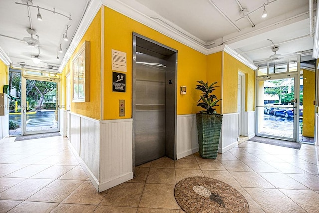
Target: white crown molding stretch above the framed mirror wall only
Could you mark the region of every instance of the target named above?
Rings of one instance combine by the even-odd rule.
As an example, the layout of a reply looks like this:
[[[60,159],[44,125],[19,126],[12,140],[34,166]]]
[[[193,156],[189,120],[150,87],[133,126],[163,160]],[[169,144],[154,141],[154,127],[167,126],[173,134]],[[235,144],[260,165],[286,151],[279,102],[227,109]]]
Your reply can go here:
[[[64,67],[70,60],[73,52],[75,51],[76,47],[79,45],[81,39],[83,38],[85,32],[89,28],[90,24],[92,23],[93,19],[95,18],[101,6],[102,6],[101,0],[92,0],[91,3],[89,4],[85,14],[83,15],[81,23],[79,24],[79,27],[73,36],[70,46],[61,61],[61,64],[59,67],[60,73],[62,73]]]

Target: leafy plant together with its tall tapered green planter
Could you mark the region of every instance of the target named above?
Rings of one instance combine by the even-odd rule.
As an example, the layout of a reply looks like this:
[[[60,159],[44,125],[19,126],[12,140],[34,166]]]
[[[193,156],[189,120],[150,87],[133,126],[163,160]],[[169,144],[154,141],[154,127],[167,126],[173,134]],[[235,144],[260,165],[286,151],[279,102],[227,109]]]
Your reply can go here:
[[[217,114],[214,108],[221,100],[212,94],[218,86],[214,86],[217,82],[210,85],[208,82],[197,82],[196,89],[202,91],[197,106],[205,109],[196,114],[199,153],[202,158],[216,159],[223,119],[223,115]]]

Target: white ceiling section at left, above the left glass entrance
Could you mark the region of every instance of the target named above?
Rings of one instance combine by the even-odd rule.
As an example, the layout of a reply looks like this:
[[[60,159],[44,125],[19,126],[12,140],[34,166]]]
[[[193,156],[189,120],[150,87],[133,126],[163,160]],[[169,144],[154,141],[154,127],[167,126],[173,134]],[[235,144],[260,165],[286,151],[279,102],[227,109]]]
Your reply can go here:
[[[51,11],[40,9],[42,21],[37,20],[38,9],[29,7],[31,14],[32,28],[39,36],[39,50],[37,47],[30,47],[23,41],[24,37],[30,37],[26,31],[31,28],[28,18],[28,9],[23,0],[1,0],[0,1],[0,47],[9,56],[13,64],[23,62],[31,66],[47,67],[47,65],[59,66],[77,26],[83,16],[88,0],[33,0],[33,6],[43,7],[67,17],[71,15],[71,20]],[[62,35],[67,31],[68,41],[62,39]],[[33,38],[37,38],[33,36]],[[56,60],[58,48],[61,44],[63,53],[59,53],[60,61]],[[31,55],[39,55],[42,60],[39,64],[34,64]]]

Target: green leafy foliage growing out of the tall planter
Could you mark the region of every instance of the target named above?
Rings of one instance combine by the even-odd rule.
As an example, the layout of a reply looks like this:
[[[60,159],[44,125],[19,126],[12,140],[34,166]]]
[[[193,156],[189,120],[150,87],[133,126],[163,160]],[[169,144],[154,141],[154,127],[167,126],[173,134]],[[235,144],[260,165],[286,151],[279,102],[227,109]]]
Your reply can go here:
[[[217,82],[213,82],[210,85],[208,85],[208,82],[203,81],[197,81],[199,84],[196,85],[196,89],[202,91],[202,95],[200,96],[200,99],[198,100],[197,106],[202,107],[205,110],[200,111],[201,114],[216,114],[216,108],[215,106],[221,99],[217,99],[216,95],[212,94],[212,92],[215,90],[216,87],[214,86],[217,84]]]

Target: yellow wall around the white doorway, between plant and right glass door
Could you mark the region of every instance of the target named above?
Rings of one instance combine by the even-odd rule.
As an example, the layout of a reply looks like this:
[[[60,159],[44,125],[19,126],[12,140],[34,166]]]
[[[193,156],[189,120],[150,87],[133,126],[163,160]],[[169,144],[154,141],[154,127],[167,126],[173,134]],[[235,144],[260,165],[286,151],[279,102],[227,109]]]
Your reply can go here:
[[[255,71],[224,52],[223,114],[237,112],[238,72],[245,73],[245,111],[254,111]]]

